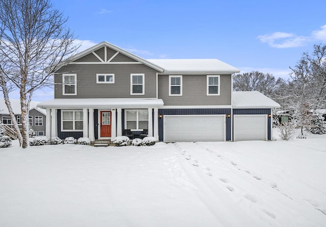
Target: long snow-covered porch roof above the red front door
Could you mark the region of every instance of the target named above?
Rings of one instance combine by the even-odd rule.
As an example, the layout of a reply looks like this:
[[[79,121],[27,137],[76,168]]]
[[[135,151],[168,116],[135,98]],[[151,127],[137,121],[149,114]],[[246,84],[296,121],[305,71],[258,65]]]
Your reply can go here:
[[[148,108],[163,106],[154,98],[56,98],[39,103],[39,108]]]

